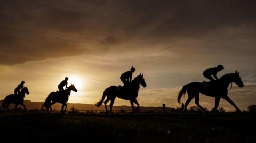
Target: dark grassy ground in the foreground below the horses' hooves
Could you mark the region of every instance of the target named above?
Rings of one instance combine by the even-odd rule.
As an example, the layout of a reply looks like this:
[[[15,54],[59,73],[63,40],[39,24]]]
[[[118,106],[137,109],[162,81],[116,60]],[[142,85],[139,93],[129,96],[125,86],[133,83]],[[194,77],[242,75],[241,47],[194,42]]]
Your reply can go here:
[[[256,114],[0,114],[0,142],[256,142]]]

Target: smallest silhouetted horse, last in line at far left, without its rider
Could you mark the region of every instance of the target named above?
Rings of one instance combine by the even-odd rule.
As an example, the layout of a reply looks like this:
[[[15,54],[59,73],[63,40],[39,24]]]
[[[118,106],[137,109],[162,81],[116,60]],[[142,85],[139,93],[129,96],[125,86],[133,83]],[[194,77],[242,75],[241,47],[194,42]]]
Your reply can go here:
[[[14,95],[14,94],[10,94],[7,95],[2,103],[2,108],[4,108],[4,111],[7,110],[9,111],[9,105],[11,103],[15,104],[15,112],[17,111],[17,107],[18,105],[21,105],[24,107],[24,111],[26,111],[26,106],[24,105],[24,97],[25,94],[29,95],[29,91],[27,87],[24,87],[23,89],[21,89],[20,93],[18,95]]]

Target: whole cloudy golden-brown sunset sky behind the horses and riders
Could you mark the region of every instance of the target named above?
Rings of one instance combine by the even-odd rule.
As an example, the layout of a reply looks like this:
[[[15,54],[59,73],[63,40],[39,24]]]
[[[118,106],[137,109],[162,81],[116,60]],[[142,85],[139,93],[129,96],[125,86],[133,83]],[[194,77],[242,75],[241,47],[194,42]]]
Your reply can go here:
[[[122,85],[134,66],[143,73],[141,106],[177,107],[181,87],[207,80],[222,64],[245,87],[229,97],[256,103],[255,1],[0,1],[0,99],[25,80],[25,99],[42,102],[67,76],[78,92],[69,103],[94,104],[105,88]],[[185,99],[187,95],[185,96]],[[201,96],[211,109],[214,98]],[[130,105],[116,99],[114,105]],[[193,106],[194,104],[190,104]],[[235,110],[221,100],[220,107]]]

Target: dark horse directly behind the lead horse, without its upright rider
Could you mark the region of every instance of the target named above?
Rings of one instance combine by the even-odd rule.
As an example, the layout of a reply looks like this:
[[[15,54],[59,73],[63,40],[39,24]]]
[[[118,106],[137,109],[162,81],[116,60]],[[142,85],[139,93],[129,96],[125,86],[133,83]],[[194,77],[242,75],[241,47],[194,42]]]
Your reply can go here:
[[[140,85],[142,85],[143,87],[147,86],[145,83],[145,80],[143,78],[143,74],[142,75],[140,74],[140,75],[138,75],[138,77],[134,78],[134,80],[131,82],[131,85],[129,86],[129,88],[127,87],[129,90],[123,89],[123,91],[120,91],[117,86],[110,86],[104,90],[102,99],[98,103],[96,103],[95,106],[100,107],[107,95],[107,99],[104,102],[106,112],[108,112],[107,103],[109,102],[109,100],[111,100],[109,107],[110,107],[110,113],[113,114],[112,107],[113,107],[116,97],[124,99],[124,100],[130,100],[131,106],[132,106],[132,111],[135,112],[138,110],[138,108],[140,106],[136,100],[136,98],[138,97]],[[135,111],[134,111],[133,103],[137,104],[137,108]]]

